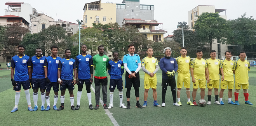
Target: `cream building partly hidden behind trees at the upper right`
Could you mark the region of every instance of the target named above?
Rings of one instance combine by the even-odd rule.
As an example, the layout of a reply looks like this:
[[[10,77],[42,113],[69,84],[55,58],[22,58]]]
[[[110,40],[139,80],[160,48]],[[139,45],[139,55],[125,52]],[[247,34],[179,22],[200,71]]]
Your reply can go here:
[[[220,15],[220,17],[223,17],[224,19],[227,19],[226,16],[226,9],[215,9],[215,6],[208,6],[208,5],[199,5],[195,7],[194,9],[188,11],[188,25],[192,26],[195,24],[195,21],[197,20],[196,15],[201,15],[204,12],[209,13],[215,13],[215,12],[225,12],[225,15]],[[221,14],[223,14],[221,13]],[[191,29],[193,30],[193,29]],[[215,50],[218,53],[218,58],[221,58],[222,56],[225,56],[225,51],[228,50],[228,46],[232,45],[226,45],[217,43],[217,40],[214,39],[214,42],[212,42],[212,49]]]

